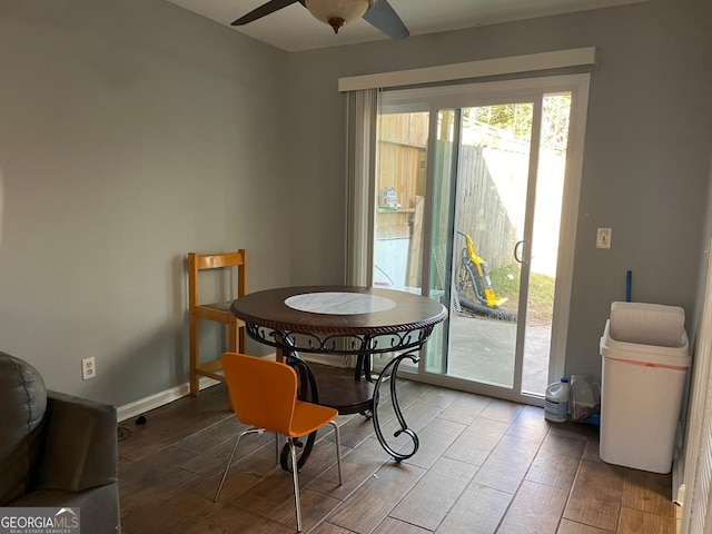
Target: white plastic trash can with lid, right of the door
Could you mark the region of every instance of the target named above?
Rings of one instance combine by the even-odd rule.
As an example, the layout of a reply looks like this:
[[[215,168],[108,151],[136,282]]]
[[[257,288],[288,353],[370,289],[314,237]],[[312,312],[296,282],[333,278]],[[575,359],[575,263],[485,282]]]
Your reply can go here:
[[[670,473],[685,378],[692,363],[688,334],[680,327],[684,325],[684,312],[640,303],[614,303],[614,306],[617,309],[614,313],[612,306],[601,338],[601,459]],[[670,325],[674,325],[663,328],[669,332],[662,338],[660,325],[664,320],[660,320],[660,314],[670,314]],[[651,320],[653,316],[659,320]],[[614,317],[620,317],[614,329],[623,340],[611,337]],[[645,325],[651,327],[651,337],[675,346],[640,343],[645,339]],[[632,338],[639,343],[626,340],[626,332],[633,333]]]

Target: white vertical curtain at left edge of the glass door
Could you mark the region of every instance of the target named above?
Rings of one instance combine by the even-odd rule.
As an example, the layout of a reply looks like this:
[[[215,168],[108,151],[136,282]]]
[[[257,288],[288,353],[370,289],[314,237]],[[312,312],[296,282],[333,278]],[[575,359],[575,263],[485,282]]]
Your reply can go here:
[[[345,280],[370,286],[378,89],[349,91],[346,98]]]

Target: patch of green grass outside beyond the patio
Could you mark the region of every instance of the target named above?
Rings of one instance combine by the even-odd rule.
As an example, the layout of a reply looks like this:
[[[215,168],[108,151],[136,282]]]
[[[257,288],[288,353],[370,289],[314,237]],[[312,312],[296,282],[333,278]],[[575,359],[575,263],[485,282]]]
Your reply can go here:
[[[520,303],[520,265],[514,264],[494,269],[490,273],[492,287],[497,297],[506,297],[508,300],[502,309],[517,312]],[[554,307],[554,285],[556,280],[551,276],[532,273],[530,276],[530,320],[536,323],[551,323]]]

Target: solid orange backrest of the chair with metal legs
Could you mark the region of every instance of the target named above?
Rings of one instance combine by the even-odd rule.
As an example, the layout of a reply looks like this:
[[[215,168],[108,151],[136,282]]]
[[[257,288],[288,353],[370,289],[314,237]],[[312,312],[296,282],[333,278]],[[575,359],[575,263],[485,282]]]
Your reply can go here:
[[[237,353],[222,355],[235,415],[246,425],[289,435],[297,374],[286,364]]]

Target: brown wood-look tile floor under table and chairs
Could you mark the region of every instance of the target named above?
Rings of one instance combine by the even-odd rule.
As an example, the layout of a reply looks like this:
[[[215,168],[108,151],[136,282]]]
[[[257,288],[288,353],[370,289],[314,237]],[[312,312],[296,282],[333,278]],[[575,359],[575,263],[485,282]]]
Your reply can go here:
[[[605,464],[597,429],[552,424],[543,411],[408,380],[400,407],[418,452],[395,463],[360,415],[318,436],[300,473],[304,532],[313,534],[674,534],[670,475]],[[385,406],[386,435],[396,425]],[[125,422],[119,443],[123,534],[296,532],[290,474],[274,436],[246,436],[217,504],[235,436],[245,428],[218,385]],[[327,427],[328,428],[328,427]],[[395,447],[411,447],[400,436]]]

